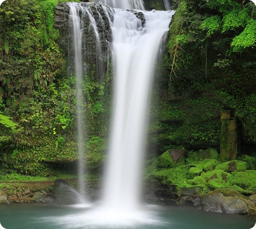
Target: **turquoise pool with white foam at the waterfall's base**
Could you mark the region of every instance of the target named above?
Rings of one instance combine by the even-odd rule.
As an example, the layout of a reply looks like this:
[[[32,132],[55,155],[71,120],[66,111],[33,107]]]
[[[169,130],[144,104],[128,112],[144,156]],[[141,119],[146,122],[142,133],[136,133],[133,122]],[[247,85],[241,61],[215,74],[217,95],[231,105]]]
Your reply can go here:
[[[6,229],[250,229],[256,220],[192,207],[147,206],[143,214],[124,219],[117,214],[113,222],[97,213],[95,208],[54,204],[0,204],[0,222]]]

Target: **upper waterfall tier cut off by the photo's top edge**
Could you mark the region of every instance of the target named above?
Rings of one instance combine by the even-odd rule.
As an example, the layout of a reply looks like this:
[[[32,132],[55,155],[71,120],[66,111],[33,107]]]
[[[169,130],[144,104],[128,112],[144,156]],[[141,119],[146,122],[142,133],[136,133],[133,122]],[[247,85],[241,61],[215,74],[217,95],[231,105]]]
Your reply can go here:
[[[120,9],[144,9],[143,0],[92,0],[92,2],[101,2]]]

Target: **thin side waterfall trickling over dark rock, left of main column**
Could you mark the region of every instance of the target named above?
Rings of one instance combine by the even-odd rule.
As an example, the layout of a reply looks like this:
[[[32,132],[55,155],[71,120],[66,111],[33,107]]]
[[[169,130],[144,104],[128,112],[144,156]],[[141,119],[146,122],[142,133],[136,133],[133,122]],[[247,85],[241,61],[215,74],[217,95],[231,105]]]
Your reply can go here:
[[[94,68],[94,80],[99,80],[105,72],[108,61],[110,22],[112,9],[103,4],[69,2],[69,71],[75,76],[77,99],[78,131],[78,177],[79,192],[85,196],[85,93],[84,82],[87,71]],[[103,18],[104,16],[104,18]],[[101,34],[101,35],[100,35]],[[106,61],[107,59],[107,61]],[[108,66],[108,63],[105,63]]]

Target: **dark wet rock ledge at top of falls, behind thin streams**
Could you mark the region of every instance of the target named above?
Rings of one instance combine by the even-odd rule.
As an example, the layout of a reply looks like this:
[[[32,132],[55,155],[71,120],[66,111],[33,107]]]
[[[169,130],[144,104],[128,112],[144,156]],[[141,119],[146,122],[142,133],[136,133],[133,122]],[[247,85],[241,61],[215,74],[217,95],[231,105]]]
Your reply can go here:
[[[114,9],[97,2],[81,2],[77,6],[87,9],[87,13],[85,13],[80,8],[78,13],[83,24],[82,40],[85,42],[82,45],[83,65],[87,71],[90,71],[95,64],[101,66],[101,69],[98,70],[98,76],[102,77],[107,70],[111,56],[110,43],[112,34],[110,23],[114,19]],[[141,11],[130,10],[130,12],[133,12],[142,21],[142,25],[145,24],[146,19]],[[72,49],[73,34],[71,31],[72,25],[69,22],[69,13],[70,7],[67,2],[60,2],[55,7],[55,27],[59,28],[61,45],[66,56],[69,56],[69,71],[72,72],[74,51]],[[93,23],[95,24],[92,25]],[[100,47],[96,38],[95,29],[100,39]]]

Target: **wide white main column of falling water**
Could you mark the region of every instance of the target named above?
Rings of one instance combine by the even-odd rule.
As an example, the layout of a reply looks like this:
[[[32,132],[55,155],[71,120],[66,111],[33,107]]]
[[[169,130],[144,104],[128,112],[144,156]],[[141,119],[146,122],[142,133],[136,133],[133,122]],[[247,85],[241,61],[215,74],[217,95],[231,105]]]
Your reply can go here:
[[[115,9],[112,25],[114,115],[103,203],[118,211],[139,206],[151,84],[161,38],[174,12],[143,13],[144,27],[134,13]]]

